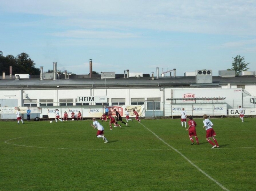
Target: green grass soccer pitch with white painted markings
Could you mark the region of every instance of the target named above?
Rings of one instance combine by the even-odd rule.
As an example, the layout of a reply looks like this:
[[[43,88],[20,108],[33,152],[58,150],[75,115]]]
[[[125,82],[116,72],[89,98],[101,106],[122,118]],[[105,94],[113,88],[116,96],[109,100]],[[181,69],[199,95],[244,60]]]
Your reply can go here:
[[[190,145],[180,119],[141,120],[96,137],[92,121],[0,121],[1,191],[254,191],[256,118],[211,119],[220,148]]]

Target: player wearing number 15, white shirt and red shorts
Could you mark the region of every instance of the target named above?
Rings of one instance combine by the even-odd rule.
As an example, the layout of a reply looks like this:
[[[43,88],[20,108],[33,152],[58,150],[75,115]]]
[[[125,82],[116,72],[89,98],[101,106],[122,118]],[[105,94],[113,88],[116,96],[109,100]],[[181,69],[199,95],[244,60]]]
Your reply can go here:
[[[219,144],[217,142],[217,140],[215,139],[216,133],[215,131],[212,129],[212,121],[210,121],[209,119],[207,119],[207,115],[204,115],[204,126],[203,128],[205,128],[206,130],[206,141],[208,141],[208,143],[210,143],[212,145],[212,149],[214,149],[215,147],[219,148]],[[214,143],[209,139],[210,137],[212,137]]]

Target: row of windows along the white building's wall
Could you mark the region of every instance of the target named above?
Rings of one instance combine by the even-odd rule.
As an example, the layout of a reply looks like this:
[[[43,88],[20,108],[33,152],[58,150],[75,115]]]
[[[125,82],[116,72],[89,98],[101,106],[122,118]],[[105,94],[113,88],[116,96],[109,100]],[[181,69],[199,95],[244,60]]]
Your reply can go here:
[[[53,106],[53,99],[39,99],[40,106]],[[77,99],[76,99],[77,102]],[[144,98],[132,98],[131,105],[143,105],[145,103]],[[37,107],[37,99],[25,99],[25,107]],[[76,106],[89,106],[89,103],[76,103]],[[95,103],[95,105],[102,105],[102,103]],[[109,105],[104,103],[104,105]],[[122,106],[125,105],[125,98],[112,98],[112,105]],[[60,106],[73,106],[73,99],[60,99]],[[160,98],[148,98],[147,99],[148,109],[160,109]]]

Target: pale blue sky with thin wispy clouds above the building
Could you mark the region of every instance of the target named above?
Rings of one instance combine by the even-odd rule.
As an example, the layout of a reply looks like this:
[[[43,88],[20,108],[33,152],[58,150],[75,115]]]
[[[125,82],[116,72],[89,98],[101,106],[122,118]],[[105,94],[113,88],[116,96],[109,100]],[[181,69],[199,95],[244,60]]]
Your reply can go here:
[[[0,50],[43,70],[148,74],[256,70],[254,0],[0,0]]]

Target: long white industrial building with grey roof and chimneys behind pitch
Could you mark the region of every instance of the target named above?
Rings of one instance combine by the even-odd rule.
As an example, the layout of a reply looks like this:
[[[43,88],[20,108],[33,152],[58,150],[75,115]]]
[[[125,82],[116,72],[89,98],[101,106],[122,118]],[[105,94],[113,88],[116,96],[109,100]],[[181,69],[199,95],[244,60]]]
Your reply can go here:
[[[56,63],[55,63],[56,64]],[[90,62],[91,66],[91,62]],[[145,104],[145,117],[156,116],[177,116],[179,111],[174,112],[173,107],[179,104],[178,107],[186,105],[187,108],[191,104],[202,103],[201,99],[184,100],[177,102],[179,97],[173,97],[175,90],[196,90],[205,89],[213,91],[215,89],[236,89],[241,90],[243,95],[250,96],[252,99],[248,108],[255,108],[256,95],[256,74],[255,72],[241,72],[235,77],[234,71],[219,71],[219,76],[212,76],[212,70],[195,70],[195,72],[185,72],[184,76],[176,76],[175,69],[173,76],[166,77],[165,74],[160,74],[156,68],[156,76],[152,74],[132,73],[129,70],[124,70],[124,74],[115,74],[115,72],[102,72],[100,75],[92,75],[90,67],[89,75],[73,75],[71,72],[64,74],[57,73],[57,66],[54,65],[53,73],[43,73],[41,67],[40,76],[30,76],[29,74],[15,74],[15,76],[6,76],[3,73],[0,76],[0,108],[3,107],[31,107],[42,108],[41,113],[33,113],[31,117],[40,116],[40,118],[50,117],[49,113],[45,114],[45,110],[53,110],[53,108],[81,108],[91,109],[98,108],[102,114],[102,105],[107,106],[135,106]],[[213,95],[213,94],[212,94]],[[104,102],[79,102],[79,96],[107,96],[107,103]],[[228,95],[213,95],[202,96],[207,98],[209,103],[215,104],[216,98],[228,98]],[[227,114],[229,108],[237,108],[236,99],[233,97],[234,104],[229,104],[225,108],[224,114]],[[237,100],[243,99],[237,96]],[[226,99],[227,100],[227,99]],[[225,104],[225,99],[217,99],[217,104]],[[239,101],[237,102],[238,104]],[[243,102],[242,102],[243,104]],[[189,105],[189,106],[188,106]],[[221,108],[222,105],[213,106]],[[186,108],[186,109],[187,109]],[[210,107],[209,107],[210,108]],[[179,110],[179,109],[178,109]],[[188,114],[189,113],[189,109]],[[193,110],[193,109],[192,109]],[[35,109],[36,111],[36,109]],[[205,112],[205,111],[203,111]],[[84,112],[85,114],[86,112]],[[192,114],[195,115],[195,113]],[[47,116],[48,115],[48,116]],[[198,115],[201,115],[201,113]],[[96,117],[99,114],[95,115]],[[92,113],[87,113],[84,118],[93,117]],[[15,114],[4,113],[0,111],[0,119],[15,119]],[[24,115],[24,118],[25,115]]]

